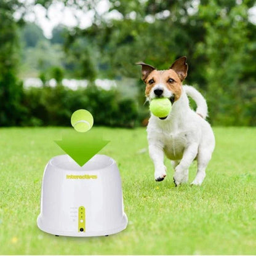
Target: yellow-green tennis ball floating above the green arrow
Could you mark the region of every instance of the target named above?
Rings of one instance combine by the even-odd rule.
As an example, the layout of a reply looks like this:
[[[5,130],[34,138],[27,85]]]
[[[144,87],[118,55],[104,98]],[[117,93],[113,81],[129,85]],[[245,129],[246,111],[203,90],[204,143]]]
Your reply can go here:
[[[71,116],[71,124],[78,132],[87,132],[92,128],[94,118],[87,110],[76,110]]]

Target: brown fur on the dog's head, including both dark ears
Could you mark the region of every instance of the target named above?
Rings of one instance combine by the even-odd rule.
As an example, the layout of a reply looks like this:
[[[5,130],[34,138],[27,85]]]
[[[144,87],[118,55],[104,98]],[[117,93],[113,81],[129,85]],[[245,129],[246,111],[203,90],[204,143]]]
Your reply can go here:
[[[145,95],[150,96],[151,90],[157,84],[162,84],[165,89],[172,92],[174,99],[177,101],[182,95],[182,81],[186,78],[188,65],[186,57],[181,57],[176,60],[169,70],[156,70],[153,66],[143,62],[137,63],[142,65],[142,80],[146,84]]]

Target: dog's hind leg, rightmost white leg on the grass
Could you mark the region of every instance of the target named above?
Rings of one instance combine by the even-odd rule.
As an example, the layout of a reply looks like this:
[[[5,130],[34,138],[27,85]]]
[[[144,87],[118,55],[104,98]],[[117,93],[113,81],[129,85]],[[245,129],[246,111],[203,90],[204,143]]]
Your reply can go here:
[[[209,150],[198,151],[198,172],[191,185],[201,185],[206,177],[206,167],[212,158],[212,152]]]

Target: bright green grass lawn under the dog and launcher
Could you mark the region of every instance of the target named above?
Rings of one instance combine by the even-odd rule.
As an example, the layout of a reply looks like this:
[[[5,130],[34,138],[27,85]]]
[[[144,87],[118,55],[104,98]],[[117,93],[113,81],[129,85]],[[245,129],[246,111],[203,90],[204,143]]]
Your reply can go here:
[[[0,129],[0,254],[256,254],[255,128],[215,127],[216,148],[201,187],[154,182],[146,130],[109,129],[101,153],[119,164],[124,209],[121,233],[55,237],[36,226],[41,180],[53,142],[66,128]],[[142,150],[142,151],[140,151]],[[190,182],[196,164],[190,168]]]

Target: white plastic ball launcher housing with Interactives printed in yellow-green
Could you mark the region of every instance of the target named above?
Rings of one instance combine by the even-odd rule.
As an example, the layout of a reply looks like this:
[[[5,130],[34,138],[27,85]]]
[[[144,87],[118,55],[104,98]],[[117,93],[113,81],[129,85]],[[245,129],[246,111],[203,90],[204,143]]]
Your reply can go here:
[[[105,236],[124,230],[127,222],[114,159],[96,154],[82,167],[67,154],[50,159],[44,170],[37,220],[42,231]]]

